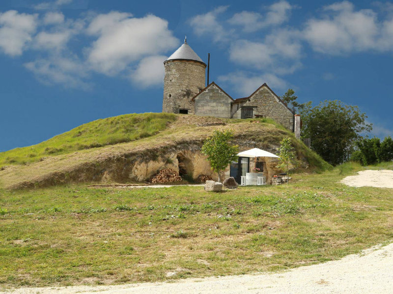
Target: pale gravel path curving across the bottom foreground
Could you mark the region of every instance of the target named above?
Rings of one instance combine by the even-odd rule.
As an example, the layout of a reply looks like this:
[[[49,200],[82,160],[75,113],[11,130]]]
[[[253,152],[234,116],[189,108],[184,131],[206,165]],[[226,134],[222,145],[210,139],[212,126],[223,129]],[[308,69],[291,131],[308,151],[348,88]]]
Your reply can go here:
[[[392,294],[393,244],[281,273],[185,279],[174,283],[24,288],[12,294]]]

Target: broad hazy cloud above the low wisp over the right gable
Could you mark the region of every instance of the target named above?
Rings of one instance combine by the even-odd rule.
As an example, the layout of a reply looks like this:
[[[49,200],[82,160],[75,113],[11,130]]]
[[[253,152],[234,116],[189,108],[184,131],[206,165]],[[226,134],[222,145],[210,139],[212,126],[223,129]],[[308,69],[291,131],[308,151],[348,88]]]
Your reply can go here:
[[[293,73],[301,67],[301,57],[297,31],[279,30],[262,42],[238,40],[229,49],[231,61],[278,74]]]

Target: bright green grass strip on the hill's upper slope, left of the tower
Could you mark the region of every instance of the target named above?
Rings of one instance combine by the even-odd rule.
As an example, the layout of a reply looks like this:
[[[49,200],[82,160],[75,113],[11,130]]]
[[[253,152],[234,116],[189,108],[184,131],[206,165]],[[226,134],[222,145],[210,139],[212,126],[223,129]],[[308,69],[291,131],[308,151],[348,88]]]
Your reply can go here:
[[[175,115],[168,113],[143,113],[85,123],[40,144],[1,152],[0,167],[150,137],[164,130],[175,118]]]

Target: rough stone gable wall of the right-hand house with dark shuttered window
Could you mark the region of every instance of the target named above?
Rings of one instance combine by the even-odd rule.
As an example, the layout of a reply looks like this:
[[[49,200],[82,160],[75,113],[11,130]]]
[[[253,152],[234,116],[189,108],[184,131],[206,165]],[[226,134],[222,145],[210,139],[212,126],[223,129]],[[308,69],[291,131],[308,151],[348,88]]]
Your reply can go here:
[[[253,115],[262,115],[281,123],[293,130],[293,113],[266,87],[261,87],[251,97],[250,101],[243,106],[256,106]],[[233,118],[241,118],[241,108],[233,115]]]

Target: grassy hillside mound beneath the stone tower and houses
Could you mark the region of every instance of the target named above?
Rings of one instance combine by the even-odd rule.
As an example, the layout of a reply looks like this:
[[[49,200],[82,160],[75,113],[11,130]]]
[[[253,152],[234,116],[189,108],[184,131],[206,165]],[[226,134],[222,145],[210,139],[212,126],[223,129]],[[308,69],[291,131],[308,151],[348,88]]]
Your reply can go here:
[[[257,122],[257,123],[256,123]],[[230,120],[163,113],[130,114],[83,124],[40,144],[0,153],[4,188],[50,186],[67,182],[137,181],[140,166],[171,164],[179,151],[198,151],[215,129],[232,129],[240,147],[276,149],[291,137],[309,170],[329,165],[269,119]],[[138,171],[137,171],[138,172]],[[146,172],[147,173],[147,172]]]

